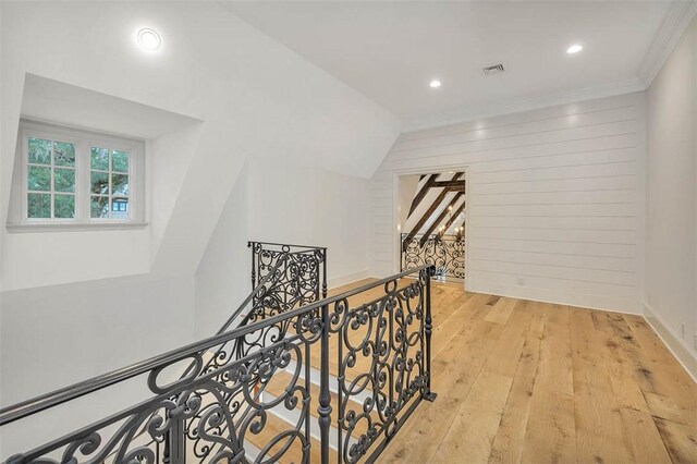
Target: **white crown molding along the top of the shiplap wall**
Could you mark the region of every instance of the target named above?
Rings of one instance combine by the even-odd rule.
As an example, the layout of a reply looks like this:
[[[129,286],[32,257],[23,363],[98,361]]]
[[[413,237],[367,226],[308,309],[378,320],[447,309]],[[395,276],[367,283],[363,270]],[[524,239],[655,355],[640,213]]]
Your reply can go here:
[[[467,107],[448,112],[432,114],[427,118],[416,118],[404,122],[402,132],[421,131],[425,129],[440,127],[443,125],[472,121],[480,118],[491,118],[504,114],[521,113],[541,108],[555,107],[558,105],[573,103],[577,101],[594,100],[596,98],[612,97],[615,95],[632,94],[646,90],[644,82],[637,77],[612,84],[603,84],[594,87],[585,87],[536,98],[514,99],[506,102]]]

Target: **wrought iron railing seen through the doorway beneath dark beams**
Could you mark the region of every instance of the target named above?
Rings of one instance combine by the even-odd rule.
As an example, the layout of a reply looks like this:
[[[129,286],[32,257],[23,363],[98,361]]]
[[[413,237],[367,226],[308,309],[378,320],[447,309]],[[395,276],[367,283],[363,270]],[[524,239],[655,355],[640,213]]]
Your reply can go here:
[[[413,235],[403,233],[401,240],[401,270],[424,265],[436,267],[439,280],[465,279],[465,235]]]

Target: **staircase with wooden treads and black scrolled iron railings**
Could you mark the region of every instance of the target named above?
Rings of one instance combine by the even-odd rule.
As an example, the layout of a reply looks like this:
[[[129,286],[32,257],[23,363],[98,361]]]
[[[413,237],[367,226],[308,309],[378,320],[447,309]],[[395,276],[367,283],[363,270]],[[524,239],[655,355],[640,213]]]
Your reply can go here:
[[[140,375],[148,400],[7,463],[375,461],[435,398],[433,268],[327,297],[326,248],[249,248],[254,290],[213,337],[7,407],[0,427]]]

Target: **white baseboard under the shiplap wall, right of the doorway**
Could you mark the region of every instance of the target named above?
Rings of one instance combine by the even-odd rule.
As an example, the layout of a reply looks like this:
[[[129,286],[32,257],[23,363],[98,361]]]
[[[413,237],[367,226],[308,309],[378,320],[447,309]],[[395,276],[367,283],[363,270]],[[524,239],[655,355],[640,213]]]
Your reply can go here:
[[[480,279],[467,279],[465,289],[468,292],[490,293],[514,298],[533,300],[542,303],[579,306],[591,309],[602,309],[611,313],[628,313],[641,315],[638,301],[619,296],[594,295],[552,289],[537,289],[531,286],[509,285]]]

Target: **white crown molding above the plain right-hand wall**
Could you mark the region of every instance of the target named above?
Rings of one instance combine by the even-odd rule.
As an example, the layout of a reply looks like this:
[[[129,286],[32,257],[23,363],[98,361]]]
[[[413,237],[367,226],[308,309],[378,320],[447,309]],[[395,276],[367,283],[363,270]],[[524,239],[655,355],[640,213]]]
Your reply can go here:
[[[656,33],[656,37],[653,37],[653,41],[637,70],[637,76],[644,83],[645,88],[651,85],[661,71],[695,14],[697,14],[697,1],[695,0],[671,3],[663,23]]]

